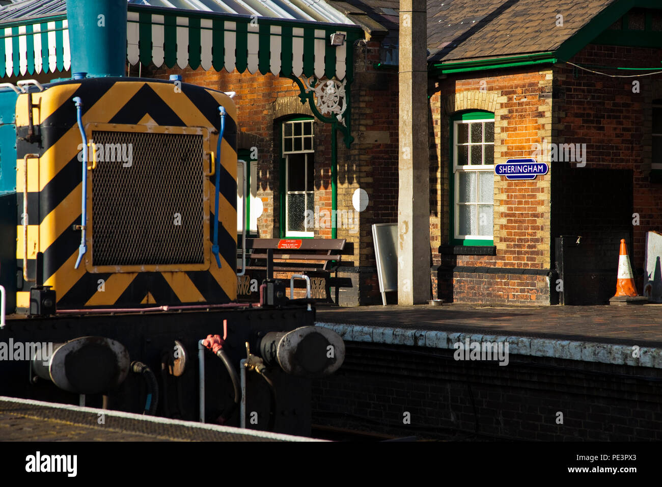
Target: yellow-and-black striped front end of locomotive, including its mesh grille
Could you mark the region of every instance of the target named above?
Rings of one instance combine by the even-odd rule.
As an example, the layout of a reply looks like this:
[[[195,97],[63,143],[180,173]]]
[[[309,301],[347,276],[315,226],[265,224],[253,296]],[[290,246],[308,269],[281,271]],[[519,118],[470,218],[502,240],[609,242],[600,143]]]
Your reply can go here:
[[[19,311],[30,307],[30,287],[39,278],[55,291],[58,308],[234,300],[236,109],[230,97],[179,81],[129,78],[39,89],[16,97],[15,174],[5,160],[11,148],[2,148],[2,186],[16,191],[5,196],[16,201],[15,230],[3,237],[3,247],[16,246],[16,278],[7,294],[15,292]],[[219,107],[224,133],[214,167]],[[214,218],[220,266],[212,252]],[[42,276],[35,275],[38,252]],[[3,257],[3,268],[11,268],[9,252]]]

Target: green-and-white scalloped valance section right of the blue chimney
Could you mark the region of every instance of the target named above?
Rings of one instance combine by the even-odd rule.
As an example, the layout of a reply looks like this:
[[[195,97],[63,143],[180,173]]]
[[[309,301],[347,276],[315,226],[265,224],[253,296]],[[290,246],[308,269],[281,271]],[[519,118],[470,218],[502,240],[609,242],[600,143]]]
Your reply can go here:
[[[162,15],[128,13],[127,57],[168,68],[196,69],[278,76],[316,76],[343,80],[348,46],[361,32],[352,26],[324,25],[240,16]],[[348,27],[351,29],[348,29]],[[342,46],[332,46],[330,35],[346,34]]]

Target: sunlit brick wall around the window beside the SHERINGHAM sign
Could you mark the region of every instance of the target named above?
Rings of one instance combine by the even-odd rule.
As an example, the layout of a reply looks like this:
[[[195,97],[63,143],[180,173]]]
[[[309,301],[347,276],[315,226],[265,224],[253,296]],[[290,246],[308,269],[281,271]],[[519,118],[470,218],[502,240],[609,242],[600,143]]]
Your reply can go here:
[[[430,132],[430,243],[433,264],[442,264],[440,244],[449,243],[449,118],[459,111],[495,113],[495,164],[531,156],[532,144],[551,139],[550,68],[497,70],[477,77],[459,74],[432,87]],[[481,82],[483,82],[481,84]],[[481,87],[483,90],[481,91]],[[495,176],[496,255],[457,255],[452,265],[549,269],[551,174],[534,182]],[[516,276],[516,277],[514,277]],[[545,276],[455,274],[452,298],[464,302],[549,303]],[[499,277],[499,278],[497,278]],[[517,279],[515,281],[514,279]],[[437,283],[433,279],[433,293]],[[443,287],[443,286],[442,286]]]

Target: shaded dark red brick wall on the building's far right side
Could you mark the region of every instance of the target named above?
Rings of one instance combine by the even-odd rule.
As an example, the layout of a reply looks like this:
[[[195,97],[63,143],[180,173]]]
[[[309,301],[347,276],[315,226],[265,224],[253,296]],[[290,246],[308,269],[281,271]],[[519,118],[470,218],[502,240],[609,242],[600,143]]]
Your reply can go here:
[[[570,62],[585,66],[651,68],[660,66],[661,49],[630,48],[590,44]],[[632,75],[600,68],[608,74]],[[628,249],[634,266],[643,268],[645,233],[662,227],[662,185],[649,182],[651,170],[651,128],[653,99],[662,98],[662,75],[638,78],[610,78],[573,66],[554,68],[555,129],[559,142],[587,144],[587,165],[575,168],[633,170],[633,208],[639,213],[639,225],[632,226],[632,215],[623,215],[622,223],[632,226],[634,248]],[[639,93],[632,81],[639,81]],[[662,161],[661,161],[662,162]],[[590,214],[587,225],[594,226]],[[616,259],[616,256],[614,256]],[[638,282],[641,291],[641,282]]]

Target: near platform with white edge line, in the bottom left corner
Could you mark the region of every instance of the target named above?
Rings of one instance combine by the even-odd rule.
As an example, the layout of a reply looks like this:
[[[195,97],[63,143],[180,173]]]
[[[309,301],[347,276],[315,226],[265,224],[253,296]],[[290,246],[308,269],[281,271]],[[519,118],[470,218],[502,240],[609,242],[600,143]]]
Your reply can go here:
[[[322,441],[0,396],[0,441]]]

